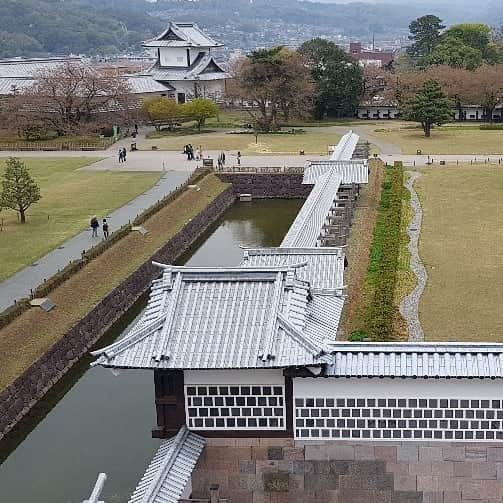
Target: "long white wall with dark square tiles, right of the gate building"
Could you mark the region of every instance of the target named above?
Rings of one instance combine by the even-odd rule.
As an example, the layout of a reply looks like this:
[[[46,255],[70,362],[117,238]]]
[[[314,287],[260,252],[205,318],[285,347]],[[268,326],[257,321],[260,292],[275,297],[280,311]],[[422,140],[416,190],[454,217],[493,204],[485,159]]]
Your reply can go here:
[[[503,382],[296,378],[298,440],[502,441]]]

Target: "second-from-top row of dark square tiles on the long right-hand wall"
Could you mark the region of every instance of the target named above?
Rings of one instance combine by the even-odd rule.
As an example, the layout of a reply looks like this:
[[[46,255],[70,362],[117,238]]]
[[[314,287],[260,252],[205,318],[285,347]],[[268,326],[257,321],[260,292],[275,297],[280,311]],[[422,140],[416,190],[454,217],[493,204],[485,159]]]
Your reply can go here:
[[[328,409],[297,408],[300,417],[392,417],[394,419],[503,419],[503,410],[494,409]]]

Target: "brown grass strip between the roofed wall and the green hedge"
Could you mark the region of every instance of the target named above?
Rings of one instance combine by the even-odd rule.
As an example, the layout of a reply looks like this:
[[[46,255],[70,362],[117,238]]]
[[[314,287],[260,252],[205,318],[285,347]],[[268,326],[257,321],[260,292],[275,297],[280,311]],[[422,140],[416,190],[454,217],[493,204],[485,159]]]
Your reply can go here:
[[[372,235],[381,197],[384,171],[379,162],[371,161],[369,184],[363,189],[356,209],[346,255],[348,267],[345,274],[348,295],[340,325],[341,339],[347,339],[353,330],[363,326],[360,306],[363,302],[365,276],[372,246]]]

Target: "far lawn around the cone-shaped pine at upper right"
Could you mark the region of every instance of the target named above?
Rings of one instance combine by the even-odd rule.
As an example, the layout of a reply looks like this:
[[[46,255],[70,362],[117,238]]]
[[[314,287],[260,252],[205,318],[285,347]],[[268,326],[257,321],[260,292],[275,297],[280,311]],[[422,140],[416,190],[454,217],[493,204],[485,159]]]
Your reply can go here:
[[[388,122],[363,129],[376,138],[400,146],[404,154],[503,154],[503,131],[481,131],[458,124],[433,129],[425,138],[421,129],[410,129],[413,123]]]

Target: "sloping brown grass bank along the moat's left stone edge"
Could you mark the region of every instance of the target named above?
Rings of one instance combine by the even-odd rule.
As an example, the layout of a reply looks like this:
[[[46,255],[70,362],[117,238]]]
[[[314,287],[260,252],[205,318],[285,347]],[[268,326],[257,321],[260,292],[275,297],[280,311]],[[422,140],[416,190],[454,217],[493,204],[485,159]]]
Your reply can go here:
[[[125,277],[145,262],[228,184],[215,175],[187,190],[144,224],[149,233],[133,232],[91,261],[51,293],[57,307],[49,313],[30,309],[0,330],[0,389],[12,382],[58,341]]]

